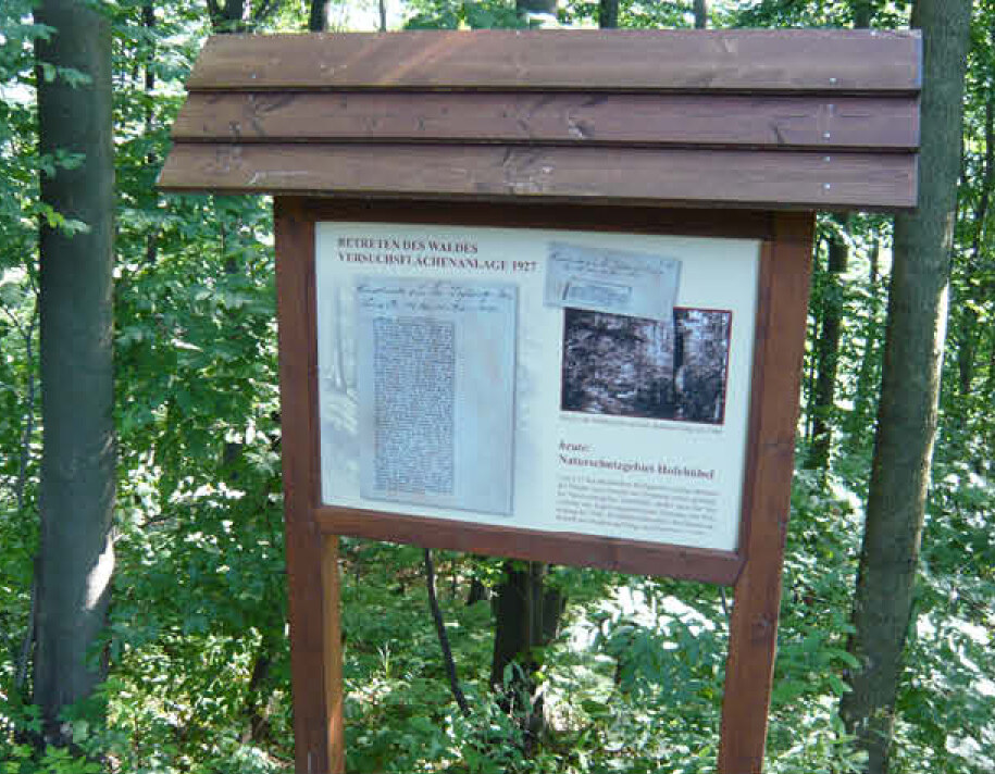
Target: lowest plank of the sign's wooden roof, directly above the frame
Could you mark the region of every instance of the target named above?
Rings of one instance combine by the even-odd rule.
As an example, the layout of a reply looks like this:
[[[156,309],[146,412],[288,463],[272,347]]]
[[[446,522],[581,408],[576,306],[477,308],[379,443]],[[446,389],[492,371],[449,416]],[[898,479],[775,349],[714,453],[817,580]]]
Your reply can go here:
[[[915,154],[494,146],[176,146],[166,190],[695,204],[911,208]]]

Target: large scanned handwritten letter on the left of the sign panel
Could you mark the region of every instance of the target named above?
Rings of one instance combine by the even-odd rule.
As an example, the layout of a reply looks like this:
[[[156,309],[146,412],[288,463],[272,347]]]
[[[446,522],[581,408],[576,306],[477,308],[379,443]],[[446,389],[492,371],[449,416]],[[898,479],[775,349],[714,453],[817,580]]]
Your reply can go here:
[[[363,498],[511,512],[517,289],[358,277]]]

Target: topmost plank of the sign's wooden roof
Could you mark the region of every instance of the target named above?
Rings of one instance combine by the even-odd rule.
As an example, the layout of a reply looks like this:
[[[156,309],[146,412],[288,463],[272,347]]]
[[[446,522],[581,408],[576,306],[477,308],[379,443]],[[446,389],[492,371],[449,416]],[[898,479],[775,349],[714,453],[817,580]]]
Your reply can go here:
[[[190,90],[918,91],[916,32],[474,30],[220,35]]]

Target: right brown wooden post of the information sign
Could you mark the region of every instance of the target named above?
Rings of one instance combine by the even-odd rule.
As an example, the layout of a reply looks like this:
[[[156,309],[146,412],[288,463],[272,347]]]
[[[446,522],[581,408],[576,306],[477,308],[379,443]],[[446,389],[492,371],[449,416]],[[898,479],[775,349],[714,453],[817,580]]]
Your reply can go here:
[[[722,704],[720,774],[758,774],[763,765],[781,604],[781,572],[805,348],[813,217],[782,213],[764,261],[750,422],[759,442],[748,465],[747,557],[736,582]]]

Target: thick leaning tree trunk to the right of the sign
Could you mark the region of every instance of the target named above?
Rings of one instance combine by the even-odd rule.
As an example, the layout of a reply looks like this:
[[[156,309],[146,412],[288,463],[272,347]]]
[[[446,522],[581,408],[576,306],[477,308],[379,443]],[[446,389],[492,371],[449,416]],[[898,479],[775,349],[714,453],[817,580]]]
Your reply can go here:
[[[841,714],[887,771],[906,634],[936,433],[940,365],[960,168],[961,98],[971,21],[969,0],[918,0],[923,32],[919,210],[895,219],[884,375],[854,602],[849,676]]]

